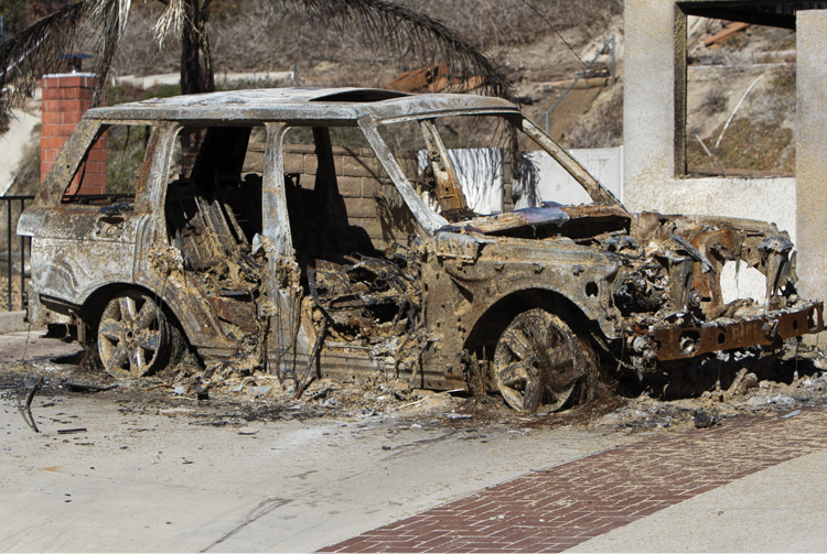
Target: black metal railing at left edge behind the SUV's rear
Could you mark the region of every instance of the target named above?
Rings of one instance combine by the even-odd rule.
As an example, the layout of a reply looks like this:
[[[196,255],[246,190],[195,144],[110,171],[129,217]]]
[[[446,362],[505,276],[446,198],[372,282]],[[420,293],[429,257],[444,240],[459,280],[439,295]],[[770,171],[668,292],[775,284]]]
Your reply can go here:
[[[15,307],[23,309],[25,302],[25,289],[26,289],[26,267],[29,257],[32,253],[32,243],[29,237],[18,237],[18,219],[20,214],[26,206],[26,203],[34,199],[34,196],[21,195],[21,196],[0,196],[2,200],[2,207],[6,209],[6,245],[0,248],[0,267],[6,270],[4,283],[4,296],[6,296],[6,308],[11,312]],[[0,219],[3,221],[3,219]],[[20,267],[15,268],[15,263]],[[17,281],[15,273],[19,273],[20,279],[20,291],[14,291],[14,283]],[[0,307],[2,309],[2,307]]]

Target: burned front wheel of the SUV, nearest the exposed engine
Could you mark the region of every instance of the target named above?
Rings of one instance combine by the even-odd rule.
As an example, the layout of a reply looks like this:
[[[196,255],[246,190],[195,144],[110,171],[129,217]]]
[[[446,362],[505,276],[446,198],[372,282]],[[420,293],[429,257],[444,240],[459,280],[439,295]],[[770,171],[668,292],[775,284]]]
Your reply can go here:
[[[534,308],[517,315],[497,340],[494,379],[513,409],[558,411],[597,395],[598,358],[562,319]]]

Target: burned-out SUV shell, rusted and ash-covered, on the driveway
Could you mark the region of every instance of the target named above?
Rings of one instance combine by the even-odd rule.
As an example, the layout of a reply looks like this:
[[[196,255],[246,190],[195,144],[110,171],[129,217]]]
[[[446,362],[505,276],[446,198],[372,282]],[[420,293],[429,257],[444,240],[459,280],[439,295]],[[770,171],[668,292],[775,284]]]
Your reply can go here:
[[[550,163],[579,191],[549,198]],[[123,196],[77,194],[104,167]],[[33,238],[30,319],[76,326],[125,378],[189,344],[213,370],[300,388],[382,373],[530,411],[606,376],[663,388],[679,369],[700,387],[707,360],[718,378],[823,329],[774,225],[630,214],[517,107],[470,95],[93,109],[18,231]]]

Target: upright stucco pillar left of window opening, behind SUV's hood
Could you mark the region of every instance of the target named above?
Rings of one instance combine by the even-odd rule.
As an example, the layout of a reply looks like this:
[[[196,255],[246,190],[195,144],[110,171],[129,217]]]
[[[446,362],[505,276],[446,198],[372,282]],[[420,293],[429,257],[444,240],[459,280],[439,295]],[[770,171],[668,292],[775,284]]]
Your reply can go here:
[[[624,21],[624,199],[659,208],[653,199],[684,173],[686,15],[672,0],[626,0]]]

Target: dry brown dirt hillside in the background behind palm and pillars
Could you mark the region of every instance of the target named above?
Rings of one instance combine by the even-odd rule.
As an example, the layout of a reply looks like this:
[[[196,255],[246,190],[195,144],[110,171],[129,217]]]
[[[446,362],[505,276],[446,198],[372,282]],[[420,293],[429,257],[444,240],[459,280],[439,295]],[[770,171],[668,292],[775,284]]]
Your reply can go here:
[[[171,37],[159,51],[152,40],[152,26],[159,15],[154,3],[133,4],[126,39],[116,57],[115,75],[178,70],[180,44]],[[400,3],[443,21],[485,52],[513,83],[526,112],[563,145],[622,144],[622,0]],[[689,20],[689,172],[792,174],[795,33],[753,25],[715,44],[705,44],[726,23]],[[439,53],[431,57],[427,53],[414,55],[405,39],[372,42],[353,24],[316,21],[286,4],[266,0],[214,2],[210,37],[219,87],[387,87],[402,70],[440,62]],[[613,43],[614,48],[606,43]],[[293,79],[270,78],[286,70],[294,72]],[[254,82],[224,83],[222,77],[233,72],[249,72]],[[567,94],[579,77],[582,78]],[[110,95],[111,100],[143,94],[127,93],[119,88]],[[147,94],[175,94],[175,87]],[[546,116],[549,110],[552,111]],[[33,142],[36,139],[32,137]],[[35,167],[36,163],[29,166]],[[37,175],[30,181],[36,186]],[[25,188],[25,183],[20,183]],[[23,188],[12,192],[25,192]]]

